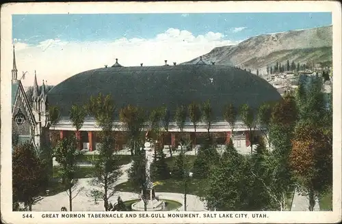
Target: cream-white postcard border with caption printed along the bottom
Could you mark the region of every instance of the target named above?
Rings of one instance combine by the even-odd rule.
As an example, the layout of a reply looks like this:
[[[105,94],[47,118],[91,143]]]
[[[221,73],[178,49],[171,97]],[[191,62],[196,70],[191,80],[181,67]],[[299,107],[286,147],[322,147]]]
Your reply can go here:
[[[333,29],[333,211],[262,212],[266,219],[44,219],[12,212],[11,90],[12,14],[94,13],[332,12]],[[157,2],[157,3],[8,3],[1,6],[1,219],[5,223],[331,223],[341,221],[341,4],[337,1]],[[104,212],[68,212],[92,214]],[[120,212],[119,212],[120,213]],[[151,212],[145,212],[146,214]],[[161,212],[153,212],[154,214]],[[172,212],[162,212],[172,214]],[[177,212],[185,213],[185,212]],[[187,212],[250,214],[255,212]],[[258,212],[259,213],[259,212]],[[33,219],[23,219],[33,214]],[[151,213],[152,214],[152,213]]]

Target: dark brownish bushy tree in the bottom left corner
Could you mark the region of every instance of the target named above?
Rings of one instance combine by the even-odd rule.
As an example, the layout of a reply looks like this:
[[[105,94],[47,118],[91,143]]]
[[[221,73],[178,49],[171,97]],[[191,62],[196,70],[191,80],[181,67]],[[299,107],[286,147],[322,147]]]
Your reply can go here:
[[[23,202],[25,210],[31,211],[34,197],[42,193],[46,184],[44,165],[34,146],[30,143],[15,146],[12,153],[13,203]]]

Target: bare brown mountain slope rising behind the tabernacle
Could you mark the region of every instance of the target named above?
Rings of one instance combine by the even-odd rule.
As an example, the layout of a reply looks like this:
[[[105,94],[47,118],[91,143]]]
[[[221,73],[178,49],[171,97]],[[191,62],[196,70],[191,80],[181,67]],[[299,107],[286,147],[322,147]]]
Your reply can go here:
[[[183,64],[196,64],[199,57]],[[287,60],[295,64],[332,63],[332,25],[313,29],[293,30],[282,33],[262,34],[248,38],[233,46],[213,48],[202,60],[208,64],[239,66],[266,73],[266,67]]]

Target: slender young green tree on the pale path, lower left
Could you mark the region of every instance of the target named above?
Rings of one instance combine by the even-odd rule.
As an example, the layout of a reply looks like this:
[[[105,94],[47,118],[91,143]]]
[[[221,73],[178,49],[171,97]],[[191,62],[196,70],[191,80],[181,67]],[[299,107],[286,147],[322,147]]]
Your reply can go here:
[[[78,179],[75,178],[77,173],[77,157],[81,152],[77,150],[75,137],[66,137],[57,142],[53,149],[57,163],[60,164],[59,177],[62,186],[66,188],[69,197],[69,210],[73,210],[73,199],[77,197],[82,188],[77,189]],[[73,193],[77,192],[74,196]]]

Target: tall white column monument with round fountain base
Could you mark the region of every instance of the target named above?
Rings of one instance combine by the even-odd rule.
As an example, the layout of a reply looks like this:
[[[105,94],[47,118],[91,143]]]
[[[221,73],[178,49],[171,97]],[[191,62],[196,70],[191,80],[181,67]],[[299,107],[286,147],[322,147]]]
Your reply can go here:
[[[147,134],[146,134],[147,135]],[[146,158],[146,173],[145,173],[145,186],[142,190],[140,201],[132,204],[132,210],[144,211],[145,203],[147,211],[160,211],[165,208],[165,203],[159,201],[155,197],[155,189],[153,188],[153,182],[150,180],[150,165],[153,161],[154,150],[151,147],[150,140],[146,137],[146,143],[144,144],[145,158]]]

